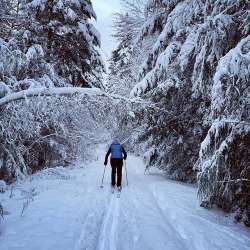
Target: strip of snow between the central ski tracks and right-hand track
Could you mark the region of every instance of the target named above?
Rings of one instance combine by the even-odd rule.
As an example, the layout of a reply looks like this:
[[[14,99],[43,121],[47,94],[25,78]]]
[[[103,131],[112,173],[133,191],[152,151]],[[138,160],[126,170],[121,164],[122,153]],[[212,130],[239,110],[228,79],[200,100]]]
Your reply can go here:
[[[135,229],[137,240],[132,248],[127,246],[121,249],[187,249],[185,239],[169,222],[167,214],[163,213],[154,194],[148,188],[143,171],[132,178],[134,184],[128,189],[130,194],[126,198],[130,199],[130,206],[133,204],[133,209],[127,207],[126,213],[129,217],[134,217],[135,223],[139,225]]]

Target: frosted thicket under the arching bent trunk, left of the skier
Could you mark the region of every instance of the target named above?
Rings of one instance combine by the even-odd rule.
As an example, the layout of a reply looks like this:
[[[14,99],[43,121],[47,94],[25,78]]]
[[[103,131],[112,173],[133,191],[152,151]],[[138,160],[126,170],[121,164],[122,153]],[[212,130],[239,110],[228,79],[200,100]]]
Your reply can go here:
[[[45,167],[92,159],[97,145],[119,130],[116,114],[127,108],[123,100],[88,91],[0,106],[0,179],[11,182]]]

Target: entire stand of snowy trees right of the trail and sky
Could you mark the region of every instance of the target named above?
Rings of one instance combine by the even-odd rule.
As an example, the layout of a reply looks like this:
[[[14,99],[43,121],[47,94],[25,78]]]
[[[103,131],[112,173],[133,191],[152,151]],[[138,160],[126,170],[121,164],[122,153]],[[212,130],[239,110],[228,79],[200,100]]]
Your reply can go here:
[[[112,90],[151,102],[136,110],[147,164],[249,225],[249,1],[125,2],[110,79],[115,65]]]

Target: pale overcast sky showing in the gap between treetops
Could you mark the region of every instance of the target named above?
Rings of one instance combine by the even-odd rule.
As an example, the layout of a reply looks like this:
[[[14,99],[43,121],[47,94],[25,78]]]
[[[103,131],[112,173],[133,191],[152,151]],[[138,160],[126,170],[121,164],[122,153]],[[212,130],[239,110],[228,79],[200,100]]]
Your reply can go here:
[[[92,3],[97,15],[95,27],[101,33],[102,55],[106,61],[115,48],[115,40],[111,36],[113,33],[112,14],[120,10],[120,0],[92,0]]]

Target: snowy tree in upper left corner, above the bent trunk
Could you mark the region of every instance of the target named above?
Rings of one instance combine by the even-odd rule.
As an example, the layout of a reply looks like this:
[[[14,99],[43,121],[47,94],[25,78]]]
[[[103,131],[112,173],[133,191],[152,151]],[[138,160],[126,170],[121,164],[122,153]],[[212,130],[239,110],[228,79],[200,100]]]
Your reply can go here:
[[[0,25],[0,96],[32,87],[66,85],[39,44],[28,43],[30,18],[21,0],[3,1]]]

